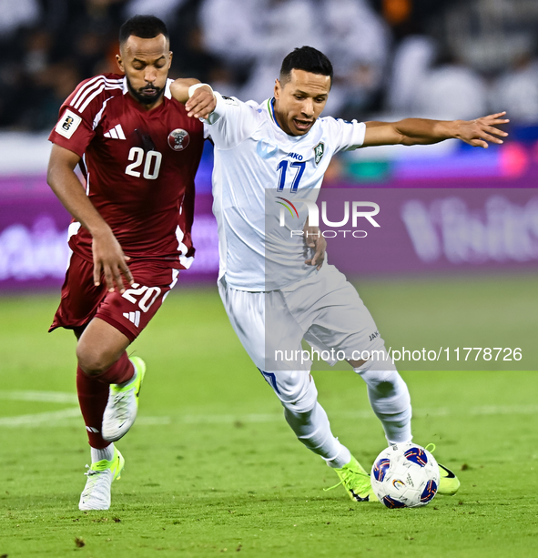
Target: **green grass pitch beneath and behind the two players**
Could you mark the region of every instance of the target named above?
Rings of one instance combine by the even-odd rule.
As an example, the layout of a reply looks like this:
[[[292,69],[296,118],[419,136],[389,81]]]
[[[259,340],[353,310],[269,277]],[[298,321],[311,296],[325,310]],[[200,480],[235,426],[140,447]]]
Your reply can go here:
[[[401,366],[415,441],[437,445],[462,489],[392,511],[322,490],[336,475],[295,440],[211,287],[178,289],[133,345],[148,372],[117,443],[126,469],[108,512],[79,512],[89,450],[74,337],[46,334],[56,296],[0,299],[0,556],[536,555],[535,292],[531,276],[360,282],[387,345],[502,342],[531,370]],[[370,467],[385,443],[365,386],[352,371],[314,375],[333,431]]]

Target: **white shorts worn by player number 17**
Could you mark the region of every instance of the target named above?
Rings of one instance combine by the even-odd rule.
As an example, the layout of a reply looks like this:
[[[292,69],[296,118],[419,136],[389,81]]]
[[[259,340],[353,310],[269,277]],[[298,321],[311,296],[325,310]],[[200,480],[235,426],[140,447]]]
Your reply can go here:
[[[324,264],[309,279],[285,289],[249,292],[232,289],[221,279],[218,291],[233,329],[262,372],[310,370],[303,338],[330,364],[336,355],[338,360],[365,360],[361,354],[383,349],[371,313],[334,266]]]

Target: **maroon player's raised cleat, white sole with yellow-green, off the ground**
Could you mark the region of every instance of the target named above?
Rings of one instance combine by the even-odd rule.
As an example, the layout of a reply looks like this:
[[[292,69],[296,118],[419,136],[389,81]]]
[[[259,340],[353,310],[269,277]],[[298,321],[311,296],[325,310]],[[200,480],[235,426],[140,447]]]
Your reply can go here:
[[[123,386],[110,384],[101,428],[101,435],[107,441],[117,441],[125,436],[137,419],[138,395],[146,374],[146,363],[139,357],[132,357],[129,360],[135,367],[132,380]]]

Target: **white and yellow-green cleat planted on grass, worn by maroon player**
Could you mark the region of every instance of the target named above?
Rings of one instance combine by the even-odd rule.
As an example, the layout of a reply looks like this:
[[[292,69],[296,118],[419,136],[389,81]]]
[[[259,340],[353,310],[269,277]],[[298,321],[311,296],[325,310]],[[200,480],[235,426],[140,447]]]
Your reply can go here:
[[[82,494],[78,509],[107,510],[110,507],[110,485],[119,479],[125,465],[123,455],[114,448],[114,457],[108,462],[106,459],[92,463],[86,472],[87,481]],[[87,467],[87,465],[86,465]]]

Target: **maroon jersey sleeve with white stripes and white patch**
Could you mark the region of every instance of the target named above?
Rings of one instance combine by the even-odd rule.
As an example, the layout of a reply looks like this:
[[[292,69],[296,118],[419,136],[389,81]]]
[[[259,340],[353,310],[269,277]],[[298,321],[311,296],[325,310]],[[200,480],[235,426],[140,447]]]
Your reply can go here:
[[[94,78],[95,80],[95,78]],[[80,83],[75,91],[66,98],[60,108],[60,118],[48,137],[49,141],[60,147],[73,151],[79,157],[84,155],[86,147],[95,136],[94,118],[96,117],[95,85],[93,80]],[[98,82],[96,82],[98,84]],[[89,102],[86,102],[89,101]]]

